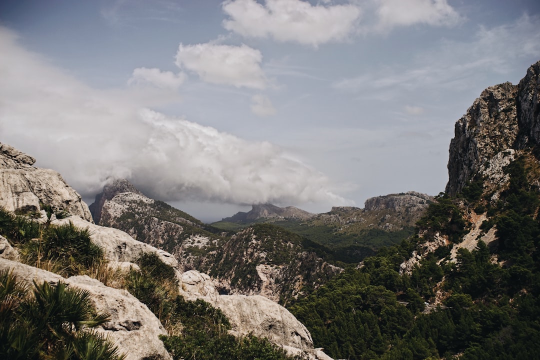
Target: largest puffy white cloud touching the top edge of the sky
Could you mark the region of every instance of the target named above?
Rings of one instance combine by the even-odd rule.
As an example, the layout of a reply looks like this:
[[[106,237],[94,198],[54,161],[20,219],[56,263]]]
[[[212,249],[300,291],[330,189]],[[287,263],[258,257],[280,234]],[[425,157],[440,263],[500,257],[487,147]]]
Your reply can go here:
[[[318,46],[346,40],[356,31],[361,10],[353,4],[311,5],[300,0],[228,0],[222,4],[225,29],[244,37]]]

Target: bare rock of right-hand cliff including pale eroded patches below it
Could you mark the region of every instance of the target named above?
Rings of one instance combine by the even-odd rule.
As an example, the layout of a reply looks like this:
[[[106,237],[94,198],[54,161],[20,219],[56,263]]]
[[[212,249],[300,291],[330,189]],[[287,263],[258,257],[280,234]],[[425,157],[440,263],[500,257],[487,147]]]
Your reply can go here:
[[[400,265],[400,270],[410,274],[440,247],[451,248],[448,260],[452,262],[456,262],[459,249],[474,250],[479,241],[496,248],[497,226],[487,228],[485,224],[495,222],[497,217],[490,213],[508,201],[501,196],[512,186],[512,165],[525,166],[521,170],[527,173],[521,174],[522,190],[529,186],[533,191],[540,190],[538,145],[540,61],[529,67],[518,85],[503,83],[482,91],[467,113],[457,120],[449,148],[446,194],[462,198],[455,209],[463,218],[464,229],[455,243],[448,234],[431,232],[429,227],[421,226],[419,235],[423,241],[410,259]],[[443,298],[441,294],[438,297],[439,301]]]

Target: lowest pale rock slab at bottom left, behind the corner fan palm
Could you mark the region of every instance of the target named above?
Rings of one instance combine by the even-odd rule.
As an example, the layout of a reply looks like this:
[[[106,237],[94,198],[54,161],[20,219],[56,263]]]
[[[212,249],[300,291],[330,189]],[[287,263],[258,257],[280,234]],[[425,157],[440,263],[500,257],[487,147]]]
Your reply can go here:
[[[159,335],[166,335],[166,331],[158,318],[127,291],[106,287],[88,276],[63,279],[49,271],[1,258],[0,269],[12,269],[18,279],[30,286],[33,280],[62,281],[70,287],[88,291],[98,313],[111,315],[110,321],[97,331],[109,336],[120,352],[126,354],[126,360],[171,359],[159,339]]]

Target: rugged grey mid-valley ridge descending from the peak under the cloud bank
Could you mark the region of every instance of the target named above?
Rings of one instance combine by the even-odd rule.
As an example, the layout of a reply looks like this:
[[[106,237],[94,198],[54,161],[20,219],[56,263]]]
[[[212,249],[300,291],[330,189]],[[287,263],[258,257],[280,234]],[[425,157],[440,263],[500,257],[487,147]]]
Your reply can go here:
[[[211,274],[223,294],[263,295],[285,302],[342,271],[307,250],[300,236],[276,227],[259,225],[233,234],[215,233],[217,229],[208,232],[199,220],[147,198],[127,180],[106,185],[91,208],[101,214],[100,225],[122,229],[137,240],[167,250],[186,271]],[[268,214],[268,209],[277,207],[254,208]],[[295,209],[282,210],[303,213]]]

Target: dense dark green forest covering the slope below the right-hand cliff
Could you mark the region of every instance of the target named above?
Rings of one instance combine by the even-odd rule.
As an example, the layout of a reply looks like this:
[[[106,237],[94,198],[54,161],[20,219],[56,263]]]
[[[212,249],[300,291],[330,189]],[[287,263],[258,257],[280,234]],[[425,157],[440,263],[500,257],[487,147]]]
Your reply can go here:
[[[540,196],[531,185],[537,168],[528,153],[507,166],[510,184],[496,201],[482,178],[455,198],[440,194],[417,235],[380,249],[289,310],[334,358],[540,358]],[[471,209],[488,214],[481,228],[495,226],[497,240],[461,248],[451,262]],[[400,264],[436,233],[448,246],[400,274]]]

